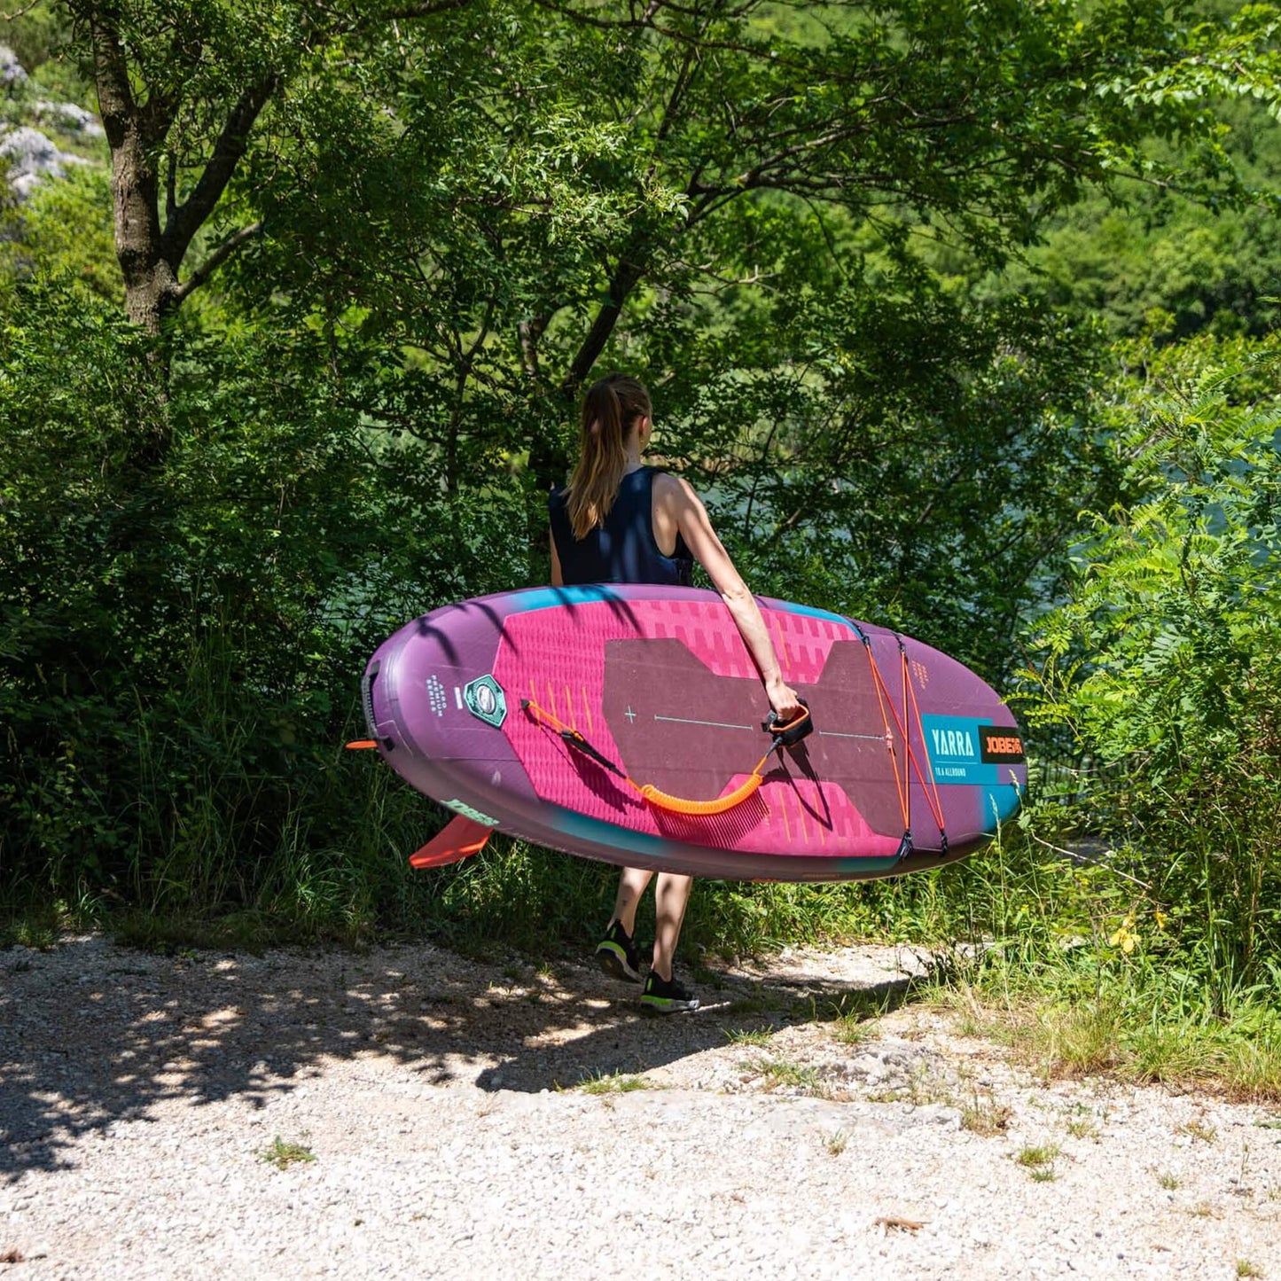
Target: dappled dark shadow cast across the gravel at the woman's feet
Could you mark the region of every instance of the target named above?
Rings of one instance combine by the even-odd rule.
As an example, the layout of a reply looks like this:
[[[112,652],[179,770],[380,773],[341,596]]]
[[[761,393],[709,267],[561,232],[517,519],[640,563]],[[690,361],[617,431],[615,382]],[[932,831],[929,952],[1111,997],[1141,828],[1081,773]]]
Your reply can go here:
[[[556,1089],[724,1047],[726,1034],[869,1017],[913,981],[705,976],[705,1008],[638,1012],[594,968],[470,963],[434,947],[366,954],[158,957],[104,939],[0,953],[0,1179],[59,1168],[81,1136],[161,1100],[257,1103],[333,1057],[378,1056],[433,1085]]]

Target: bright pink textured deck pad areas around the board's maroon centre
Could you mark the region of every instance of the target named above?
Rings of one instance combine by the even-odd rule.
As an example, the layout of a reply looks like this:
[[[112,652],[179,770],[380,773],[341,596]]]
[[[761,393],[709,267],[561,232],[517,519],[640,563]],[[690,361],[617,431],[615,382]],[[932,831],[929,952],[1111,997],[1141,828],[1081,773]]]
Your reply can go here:
[[[762,612],[783,678],[793,684],[817,683],[833,644],[858,643],[848,628],[828,619]],[[580,730],[610,760],[620,761],[602,712],[605,644],[637,637],[680,640],[715,675],[757,679],[756,665],[719,601],[629,601],[621,607],[600,601],[509,616],[493,676],[510,705],[503,733],[542,799],[637,831],[722,849],[812,856],[835,854],[840,845],[857,843],[869,853],[894,853],[898,840],[872,833],[838,784],[789,776],[772,763],[756,796],[724,815],[697,817],[652,808],[621,779],[587,762],[520,708],[520,699],[533,699]],[[763,710],[763,690],[761,703]],[[762,735],[752,749],[760,755],[766,746]],[[752,763],[744,762],[744,772],[725,794],[747,779]]]

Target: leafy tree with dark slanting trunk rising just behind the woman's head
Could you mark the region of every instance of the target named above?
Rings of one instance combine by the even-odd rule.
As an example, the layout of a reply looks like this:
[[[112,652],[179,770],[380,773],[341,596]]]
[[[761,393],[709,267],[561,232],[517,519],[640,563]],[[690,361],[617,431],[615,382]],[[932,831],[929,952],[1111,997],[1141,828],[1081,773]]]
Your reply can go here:
[[[365,28],[342,86],[293,97],[287,142],[246,161],[246,208],[282,231],[242,283],[410,354],[379,416],[437,451],[446,488],[521,459],[539,496],[623,318],[619,351],[662,300],[731,279],[785,291],[778,264],[807,219],[849,277],[872,242],[902,257],[924,229],[1002,261],[1120,174],[1240,195],[1185,88],[1227,51],[1266,68],[1272,38],[1145,3],[1080,22],[1027,5],[494,4],[468,24],[465,42]],[[1158,161],[1152,136],[1186,151]]]

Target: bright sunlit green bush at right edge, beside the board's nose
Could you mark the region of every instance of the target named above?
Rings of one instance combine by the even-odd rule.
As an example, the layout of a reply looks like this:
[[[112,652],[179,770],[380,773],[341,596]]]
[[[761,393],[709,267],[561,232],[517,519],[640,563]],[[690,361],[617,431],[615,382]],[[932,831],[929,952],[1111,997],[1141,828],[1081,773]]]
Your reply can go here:
[[[1102,766],[1063,820],[1120,847],[1221,1002],[1281,953],[1276,363],[1275,341],[1148,355],[1118,424],[1139,497],[1094,515],[1030,702]]]

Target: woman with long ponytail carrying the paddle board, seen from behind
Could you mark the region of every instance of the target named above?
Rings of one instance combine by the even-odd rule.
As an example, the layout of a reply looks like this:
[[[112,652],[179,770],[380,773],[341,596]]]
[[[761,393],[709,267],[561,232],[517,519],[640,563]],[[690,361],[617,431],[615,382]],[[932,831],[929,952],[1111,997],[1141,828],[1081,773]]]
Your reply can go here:
[[[761,611],[707,519],[698,494],[679,477],[647,468],[640,457],[653,432],[649,393],[634,378],[608,374],[583,398],[578,466],[569,485],[553,491],[552,585],[666,583],[689,587],[693,562],[707,571],[738,625],[781,720],[799,707],[783,681]],[[626,867],[614,916],[596,954],[607,974],[640,981],[632,935],[637,906],[653,874]],[[674,977],[671,965],[692,877],[660,872],[655,888],[653,962],[640,997],[658,1013],[697,1009],[698,1000]]]

